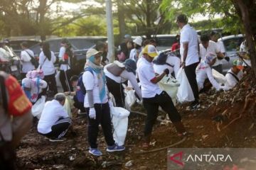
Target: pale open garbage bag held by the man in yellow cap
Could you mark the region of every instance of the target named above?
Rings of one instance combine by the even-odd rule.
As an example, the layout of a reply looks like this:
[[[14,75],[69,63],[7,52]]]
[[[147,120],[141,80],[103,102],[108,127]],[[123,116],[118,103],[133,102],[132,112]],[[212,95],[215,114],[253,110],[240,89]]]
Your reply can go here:
[[[178,86],[180,86],[180,84],[174,77],[164,77],[163,79],[161,79],[161,81],[159,81],[160,89],[166,91],[166,93],[169,94],[171,100],[174,103],[174,106],[176,105]]]

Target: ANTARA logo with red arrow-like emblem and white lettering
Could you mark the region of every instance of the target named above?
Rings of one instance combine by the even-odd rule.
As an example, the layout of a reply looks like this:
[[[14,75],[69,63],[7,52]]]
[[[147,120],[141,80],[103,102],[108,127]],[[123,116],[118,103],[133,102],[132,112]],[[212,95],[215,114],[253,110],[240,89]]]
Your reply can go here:
[[[183,152],[178,152],[169,157],[169,159],[178,164],[178,166],[184,166],[184,162],[233,162],[229,154],[189,154],[184,162],[182,157]]]

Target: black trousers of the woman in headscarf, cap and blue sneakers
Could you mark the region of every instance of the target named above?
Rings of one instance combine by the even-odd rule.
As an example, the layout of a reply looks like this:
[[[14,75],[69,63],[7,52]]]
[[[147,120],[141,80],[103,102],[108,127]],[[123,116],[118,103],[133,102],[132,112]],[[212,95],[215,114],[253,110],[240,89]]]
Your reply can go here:
[[[105,141],[108,146],[114,145],[112,135],[112,125],[110,118],[110,106],[108,103],[95,105],[96,119],[89,117],[90,108],[85,108],[87,113],[88,123],[88,142],[91,148],[97,148],[97,135],[99,133],[99,124],[102,126]]]

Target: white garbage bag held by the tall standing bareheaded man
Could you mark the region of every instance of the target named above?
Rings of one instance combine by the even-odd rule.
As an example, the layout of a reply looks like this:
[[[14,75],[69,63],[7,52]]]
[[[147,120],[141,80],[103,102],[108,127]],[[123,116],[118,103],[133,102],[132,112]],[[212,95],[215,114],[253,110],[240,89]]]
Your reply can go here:
[[[193,91],[183,68],[178,70],[177,80],[181,84],[178,87],[177,92],[178,101],[181,103],[185,101],[194,101]]]

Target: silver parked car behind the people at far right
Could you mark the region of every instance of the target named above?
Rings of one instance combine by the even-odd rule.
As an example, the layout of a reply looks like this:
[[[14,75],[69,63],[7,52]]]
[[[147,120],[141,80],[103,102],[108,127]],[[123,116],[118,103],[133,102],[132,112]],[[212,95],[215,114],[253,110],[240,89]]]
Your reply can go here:
[[[232,67],[234,60],[238,59],[238,50],[244,40],[245,36],[242,34],[239,35],[229,35],[223,38],[219,38],[218,41],[222,41],[225,47],[225,53],[227,57],[230,57],[230,61],[223,60],[223,73],[227,73],[228,70]]]

